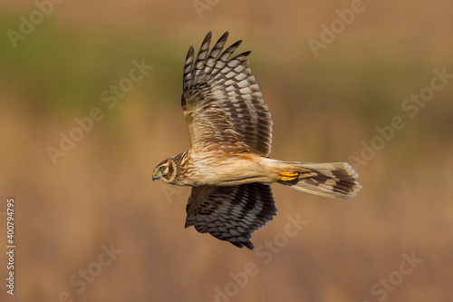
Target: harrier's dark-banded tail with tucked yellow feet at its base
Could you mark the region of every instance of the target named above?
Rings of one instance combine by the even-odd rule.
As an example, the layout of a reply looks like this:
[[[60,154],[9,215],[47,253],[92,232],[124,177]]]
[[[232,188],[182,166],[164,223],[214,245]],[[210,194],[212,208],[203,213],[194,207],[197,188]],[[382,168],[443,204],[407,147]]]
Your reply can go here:
[[[352,199],[361,190],[359,174],[347,162],[285,162],[291,172],[280,173],[279,183],[314,195]]]

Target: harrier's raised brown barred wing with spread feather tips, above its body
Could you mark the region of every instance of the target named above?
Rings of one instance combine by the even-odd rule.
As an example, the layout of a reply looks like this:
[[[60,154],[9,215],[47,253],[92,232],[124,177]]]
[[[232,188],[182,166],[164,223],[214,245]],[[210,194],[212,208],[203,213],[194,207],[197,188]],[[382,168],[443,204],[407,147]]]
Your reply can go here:
[[[188,122],[193,149],[215,148],[268,156],[271,151],[271,114],[255,77],[248,68],[250,52],[231,54],[242,43],[222,53],[228,32],[209,53],[211,32],[201,44],[194,63],[190,46],[183,76],[182,109]]]

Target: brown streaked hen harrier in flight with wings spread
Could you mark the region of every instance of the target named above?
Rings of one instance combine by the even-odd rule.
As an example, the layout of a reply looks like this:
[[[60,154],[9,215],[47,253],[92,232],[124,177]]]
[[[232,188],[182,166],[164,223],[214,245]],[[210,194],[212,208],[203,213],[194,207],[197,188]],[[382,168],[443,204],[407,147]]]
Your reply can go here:
[[[340,199],[351,199],[361,185],[347,162],[269,158],[271,114],[248,68],[250,52],[231,58],[242,41],[222,52],[227,37],[209,52],[209,32],[197,58],[188,49],[181,106],[191,148],[160,162],[152,180],[192,187],[186,228],[253,249],[252,233],[276,214],[271,183]]]

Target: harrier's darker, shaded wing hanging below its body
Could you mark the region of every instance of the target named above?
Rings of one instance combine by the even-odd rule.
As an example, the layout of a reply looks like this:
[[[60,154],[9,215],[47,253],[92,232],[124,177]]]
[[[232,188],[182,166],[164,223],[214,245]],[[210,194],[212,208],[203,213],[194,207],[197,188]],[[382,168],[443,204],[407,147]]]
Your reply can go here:
[[[186,211],[186,228],[195,226],[200,233],[250,249],[252,233],[276,214],[271,187],[262,183],[193,187]]]

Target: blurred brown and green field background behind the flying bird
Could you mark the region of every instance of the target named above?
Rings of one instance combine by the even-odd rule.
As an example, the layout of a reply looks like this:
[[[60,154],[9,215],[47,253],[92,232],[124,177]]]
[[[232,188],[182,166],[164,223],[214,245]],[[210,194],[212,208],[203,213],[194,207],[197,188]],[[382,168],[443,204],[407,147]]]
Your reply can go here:
[[[352,7],[350,24],[338,21]],[[13,197],[17,248],[14,297],[2,284],[0,299],[450,301],[453,79],[427,102],[405,100],[434,69],[453,73],[452,9],[441,0],[2,1],[0,242]],[[323,34],[332,23],[336,34]],[[156,164],[189,148],[182,69],[209,30],[253,51],[273,158],[354,161],[361,175],[353,200],[273,186],[278,215],[255,232],[255,251],[184,229],[190,190],[151,181]],[[329,43],[313,52],[310,39]],[[131,82],[140,63],[147,69]],[[380,139],[376,127],[396,116],[404,128]],[[371,143],[375,154],[364,151]],[[306,222],[294,237],[288,216]],[[3,282],[6,262],[0,253]]]

